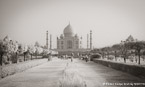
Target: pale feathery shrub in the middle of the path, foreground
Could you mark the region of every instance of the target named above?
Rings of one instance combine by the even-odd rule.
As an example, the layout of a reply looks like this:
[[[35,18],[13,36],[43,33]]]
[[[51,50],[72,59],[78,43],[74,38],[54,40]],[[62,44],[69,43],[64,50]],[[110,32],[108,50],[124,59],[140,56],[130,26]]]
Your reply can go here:
[[[78,70],[67,64],[63,72],[63,77],[60,80],[59,87],[87,87],[87,85]]]

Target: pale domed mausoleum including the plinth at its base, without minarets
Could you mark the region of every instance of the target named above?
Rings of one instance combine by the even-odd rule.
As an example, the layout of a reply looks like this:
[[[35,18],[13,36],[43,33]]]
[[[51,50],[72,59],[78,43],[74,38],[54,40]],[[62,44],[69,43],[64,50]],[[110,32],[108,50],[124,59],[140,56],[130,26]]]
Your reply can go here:
[[[71,55],[75,56],[86,52],[88,49],[82,49],[82,38],[77,34],[74,34],[70,23],[64,28],[63,34],[57,37],[57,49],[59,55]]]

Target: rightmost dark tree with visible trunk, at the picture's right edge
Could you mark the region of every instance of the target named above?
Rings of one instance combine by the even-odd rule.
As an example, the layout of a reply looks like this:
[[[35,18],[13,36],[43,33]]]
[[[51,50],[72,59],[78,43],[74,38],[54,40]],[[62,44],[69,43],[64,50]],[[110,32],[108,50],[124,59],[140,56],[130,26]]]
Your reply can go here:
[[[141,50],[145,48],[145,42],[143,41],[133,42],[131,44],[131,48],[136,50],[139,58],[138,64],[140,64]]]

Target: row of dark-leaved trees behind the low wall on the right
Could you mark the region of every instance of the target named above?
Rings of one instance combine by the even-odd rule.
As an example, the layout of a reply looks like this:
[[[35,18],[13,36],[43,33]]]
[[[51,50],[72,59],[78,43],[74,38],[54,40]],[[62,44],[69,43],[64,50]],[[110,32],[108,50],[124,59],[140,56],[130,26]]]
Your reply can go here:
[[[102,58],[110,59],[110,55],[113,55],[115,61],[118,57],[123,58],[124,63],[129,56],[134,55],[138,57],[138,64],[140,64],[141,56],[145,56],[145,41],[125,42],[121,41],[120,44],[114,44],[113,46],[103,47],[93,50],[102,54]]]

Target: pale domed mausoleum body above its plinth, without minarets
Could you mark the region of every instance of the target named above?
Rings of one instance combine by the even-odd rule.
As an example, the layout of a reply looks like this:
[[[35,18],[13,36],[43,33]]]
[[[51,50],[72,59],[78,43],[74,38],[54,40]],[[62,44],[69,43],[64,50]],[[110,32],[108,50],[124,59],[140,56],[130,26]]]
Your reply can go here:
[[[59,50],[76,50],[80,49],[81,47],[81,40],[77,36],[77,34],[74,35],[73,29],[70,24],[68,24],[63,34],[60,35],[60,37],[57,38],[57,49]]]

